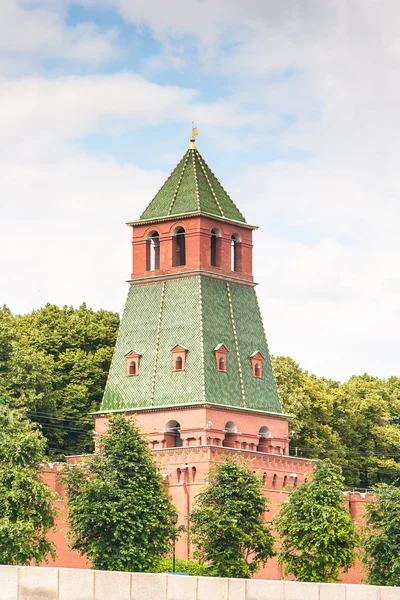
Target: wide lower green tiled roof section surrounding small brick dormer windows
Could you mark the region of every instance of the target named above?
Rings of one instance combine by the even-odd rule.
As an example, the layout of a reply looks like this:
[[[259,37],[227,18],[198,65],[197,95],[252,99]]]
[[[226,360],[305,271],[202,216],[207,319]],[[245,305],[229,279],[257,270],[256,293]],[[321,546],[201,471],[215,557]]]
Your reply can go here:
[[[172,369],[177,344],[187,348],[182,372]],[[216,368],[219,344],[229,351],[226,373]],[[139,374],[127,377],[133,349]],[[253,377],[256,351],[262,379]],[[204,402],[281,413],[255,289],[206,276],[131,286],[101,410]]]

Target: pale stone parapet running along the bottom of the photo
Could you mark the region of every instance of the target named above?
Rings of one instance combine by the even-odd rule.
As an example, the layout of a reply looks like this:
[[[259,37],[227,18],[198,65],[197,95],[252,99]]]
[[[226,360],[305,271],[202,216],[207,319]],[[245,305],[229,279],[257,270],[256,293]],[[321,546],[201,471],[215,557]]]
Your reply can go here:
[[[1,600],[400,600],[400,588],[0,567]]]

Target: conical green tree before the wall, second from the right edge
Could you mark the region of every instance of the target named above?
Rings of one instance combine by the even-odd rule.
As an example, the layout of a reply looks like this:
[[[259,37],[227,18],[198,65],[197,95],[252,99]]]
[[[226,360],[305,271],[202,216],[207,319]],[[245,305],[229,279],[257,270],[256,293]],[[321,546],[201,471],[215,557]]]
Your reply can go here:
[[[299,581],[338,581],[354,564],[354,523],[343,498],[344,480],[329,460],[311,480],[294,488],[279,509],[278,560]]]

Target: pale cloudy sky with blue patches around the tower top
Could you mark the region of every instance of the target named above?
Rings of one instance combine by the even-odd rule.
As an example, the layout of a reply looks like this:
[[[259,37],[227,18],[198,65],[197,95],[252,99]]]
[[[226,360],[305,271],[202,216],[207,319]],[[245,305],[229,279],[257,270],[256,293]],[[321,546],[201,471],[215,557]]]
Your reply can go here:
[[[197,147],[254,235],[270,351],[400,376],[398,0],[1,0],[0,303],[121,312]]]

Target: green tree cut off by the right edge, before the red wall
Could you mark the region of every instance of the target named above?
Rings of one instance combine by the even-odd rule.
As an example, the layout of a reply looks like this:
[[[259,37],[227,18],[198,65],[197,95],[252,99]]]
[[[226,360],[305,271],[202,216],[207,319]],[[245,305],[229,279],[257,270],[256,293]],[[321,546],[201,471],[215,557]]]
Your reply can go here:
[[[365,505],[363,562],[372,585],[400,586],[400,488],[378,484]]]

